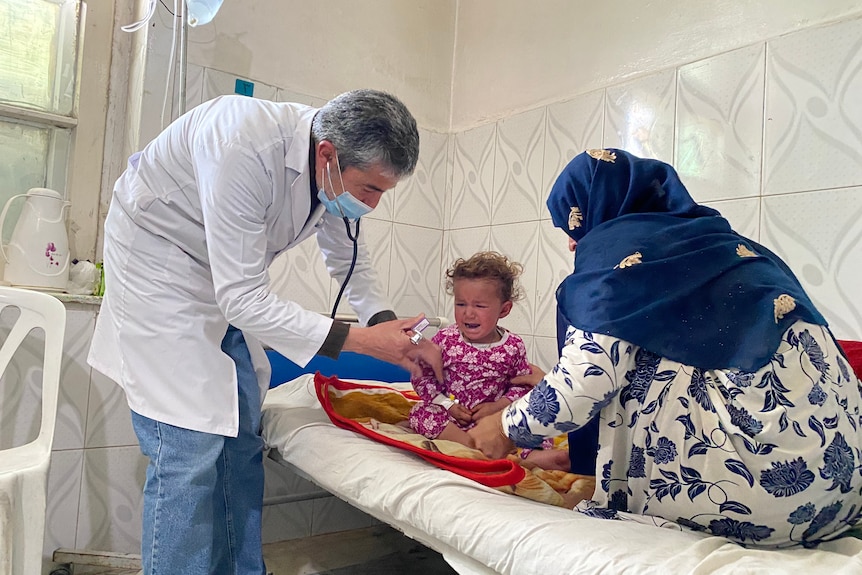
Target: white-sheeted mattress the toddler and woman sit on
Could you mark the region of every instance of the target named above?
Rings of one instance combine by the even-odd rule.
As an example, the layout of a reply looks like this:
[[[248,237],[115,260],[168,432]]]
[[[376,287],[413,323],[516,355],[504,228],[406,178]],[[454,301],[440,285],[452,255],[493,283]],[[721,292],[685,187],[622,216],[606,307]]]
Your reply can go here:
[[[335,427],[311,375],[269,391],[263,436],[312,481],[440,552],[464,575],[862,573],[862,540],[751,550],[719,537],[506,495]]]

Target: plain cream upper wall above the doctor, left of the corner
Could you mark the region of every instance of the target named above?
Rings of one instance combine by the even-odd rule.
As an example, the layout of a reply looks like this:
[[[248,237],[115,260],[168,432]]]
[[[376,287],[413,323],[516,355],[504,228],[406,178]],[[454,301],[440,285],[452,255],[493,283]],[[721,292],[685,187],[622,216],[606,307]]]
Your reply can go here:
[[[420,125],[448,128],[455,0],[226,0],[189,34],[189,61],[329,99],[397,94]]]

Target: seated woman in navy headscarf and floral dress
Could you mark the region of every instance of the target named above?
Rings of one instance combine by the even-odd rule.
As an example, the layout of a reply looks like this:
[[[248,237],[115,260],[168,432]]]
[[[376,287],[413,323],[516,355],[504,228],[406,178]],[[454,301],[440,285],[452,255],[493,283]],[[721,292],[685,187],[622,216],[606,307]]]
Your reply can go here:
[[[766,547],[862,515],[860,383],[775,254],[698,205],[674,169],[575,157],[548,198],[577,242],[559,363],[470,433],[489,457],[599,418],[582,510],[661,517]]]

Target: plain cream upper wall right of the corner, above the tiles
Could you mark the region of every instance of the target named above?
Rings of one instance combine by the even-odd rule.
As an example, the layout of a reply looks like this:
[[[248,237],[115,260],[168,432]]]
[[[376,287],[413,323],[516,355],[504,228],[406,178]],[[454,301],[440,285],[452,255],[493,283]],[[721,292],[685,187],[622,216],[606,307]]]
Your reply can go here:
[[[859,13],[858,0],[460,0],[451,129]]]

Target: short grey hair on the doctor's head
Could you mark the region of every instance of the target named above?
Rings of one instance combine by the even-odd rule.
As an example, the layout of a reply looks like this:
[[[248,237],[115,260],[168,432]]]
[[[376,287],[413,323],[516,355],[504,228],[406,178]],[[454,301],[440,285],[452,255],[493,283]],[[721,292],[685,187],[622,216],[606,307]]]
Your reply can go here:
[[[400,180],[413,173],[419,159],[416,120],[386,92],[353,90],[336,96],[314,116],[311,134],[316,142],[332,142],[342,171],[380,163]]]

